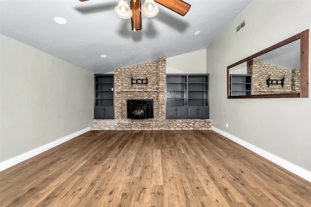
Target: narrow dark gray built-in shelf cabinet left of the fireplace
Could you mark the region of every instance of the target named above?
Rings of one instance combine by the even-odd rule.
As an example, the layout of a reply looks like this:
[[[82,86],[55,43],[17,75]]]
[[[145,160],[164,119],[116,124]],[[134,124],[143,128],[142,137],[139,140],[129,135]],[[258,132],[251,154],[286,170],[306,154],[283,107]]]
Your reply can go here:
[[[114,75],[94,76],[94,118],[114,119]]]

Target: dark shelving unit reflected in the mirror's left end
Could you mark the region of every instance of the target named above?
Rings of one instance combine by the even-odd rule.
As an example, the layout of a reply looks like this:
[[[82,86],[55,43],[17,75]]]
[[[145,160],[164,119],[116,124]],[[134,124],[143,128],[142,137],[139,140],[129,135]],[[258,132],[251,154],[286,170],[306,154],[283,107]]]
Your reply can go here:
[[[252,74],[230,74],[230,96],[252,95]]]

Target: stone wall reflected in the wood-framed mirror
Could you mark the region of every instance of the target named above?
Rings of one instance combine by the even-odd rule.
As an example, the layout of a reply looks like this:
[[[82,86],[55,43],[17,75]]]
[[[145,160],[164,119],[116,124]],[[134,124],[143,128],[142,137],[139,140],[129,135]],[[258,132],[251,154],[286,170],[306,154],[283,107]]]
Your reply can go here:
[[[247,61],[247,74],[252,74],[253,77],[253,95],[300,92],[300,69],[298,68],[284,68],[254,58]],[[266,80],[270,74],[271,79],[282,79],[285,75],[284,87],[281,85],[268,87]]]

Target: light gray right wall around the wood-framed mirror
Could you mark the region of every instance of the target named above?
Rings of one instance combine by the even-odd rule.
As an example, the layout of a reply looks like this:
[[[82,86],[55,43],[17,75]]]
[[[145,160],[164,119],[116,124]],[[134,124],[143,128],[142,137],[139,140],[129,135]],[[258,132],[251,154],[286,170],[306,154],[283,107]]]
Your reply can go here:
[[[311,171],[311,98],[226,98],[228,65],[306,29],[310,0],[253,0],[208,46],[207,73],[214,127]]]

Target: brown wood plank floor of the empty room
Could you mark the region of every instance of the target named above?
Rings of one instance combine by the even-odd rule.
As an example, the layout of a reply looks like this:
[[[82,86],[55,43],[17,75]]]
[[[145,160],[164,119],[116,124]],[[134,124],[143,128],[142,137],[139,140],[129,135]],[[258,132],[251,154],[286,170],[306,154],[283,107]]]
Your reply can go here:
[[[214,131],[88,131],[0,173],[1,207],[310,207],[311,183]]]

